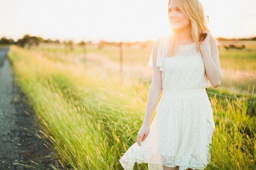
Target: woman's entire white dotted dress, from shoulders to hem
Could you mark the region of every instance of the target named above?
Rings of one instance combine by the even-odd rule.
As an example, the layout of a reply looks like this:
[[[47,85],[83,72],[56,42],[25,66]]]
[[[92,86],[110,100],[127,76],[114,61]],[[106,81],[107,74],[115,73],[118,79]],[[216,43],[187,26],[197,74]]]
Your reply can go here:
[[[145,141],[135,142],[119,160],[125,170],[133,170],[135,162],[148,163],[149,170],[163,170],[163,165],[204,170],[209,164],[215,123],[203,58],[195,42],[178,45],[175,56],[168,57],[168,44],[162,37],[157,51],[163,95]]]

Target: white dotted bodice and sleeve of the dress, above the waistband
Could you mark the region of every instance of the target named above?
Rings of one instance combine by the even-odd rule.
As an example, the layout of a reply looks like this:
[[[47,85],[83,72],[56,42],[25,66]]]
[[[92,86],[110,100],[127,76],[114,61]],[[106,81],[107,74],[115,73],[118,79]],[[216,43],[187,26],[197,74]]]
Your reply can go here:
[[[157,51],[157,67],[162,71],[163,89],[208,88],[211,84],[205,74],[204,61],[195,42],[178,45],[176,55],[168,57],[166,55],[168,40],[162,37]],[[153,50],[148,60],[148,67],[153,67],[152,54]]]

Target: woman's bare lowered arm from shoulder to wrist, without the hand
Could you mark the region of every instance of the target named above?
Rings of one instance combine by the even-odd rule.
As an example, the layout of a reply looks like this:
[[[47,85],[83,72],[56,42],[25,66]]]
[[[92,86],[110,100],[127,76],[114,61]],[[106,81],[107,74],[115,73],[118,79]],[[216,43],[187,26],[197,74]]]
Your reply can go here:
[[[145,109],[145,117],[143,125],[150,125],[151,117],[154,113],[160,94],[162,93],[162,71],[156,66],[157,63],[157,51],[160,43],[160,38],[156,40],[152,51],[152,64],[153,64],[153,76],[151,85],[148,91],[148,99]]]

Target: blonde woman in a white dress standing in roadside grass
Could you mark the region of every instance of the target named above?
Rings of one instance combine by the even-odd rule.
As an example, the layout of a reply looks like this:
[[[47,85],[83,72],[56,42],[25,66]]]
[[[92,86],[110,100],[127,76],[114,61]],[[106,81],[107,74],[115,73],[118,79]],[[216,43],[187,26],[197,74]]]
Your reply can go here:
[[[168,13],[172,33],[154,42],[143,125],[119,160],[125,170],[135,162],[149,170],[204,170],[210,161],[215,122],[206,88],[217,88],[223,77],[218,42],[199,0],[169,0]]]

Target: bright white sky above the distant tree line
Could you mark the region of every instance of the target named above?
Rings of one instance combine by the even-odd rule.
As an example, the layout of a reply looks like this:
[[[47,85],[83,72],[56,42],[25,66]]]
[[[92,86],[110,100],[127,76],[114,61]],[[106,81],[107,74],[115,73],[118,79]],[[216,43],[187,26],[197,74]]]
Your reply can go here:
[[[156,40],[169,34],[168,0],[1,0],[0,37],[74,42]],[[256,36],[256,0],[200,0],[215,37]],[[234,18],[237,17],[237,18]],[[233,19],[230,19],[233,18]]]

